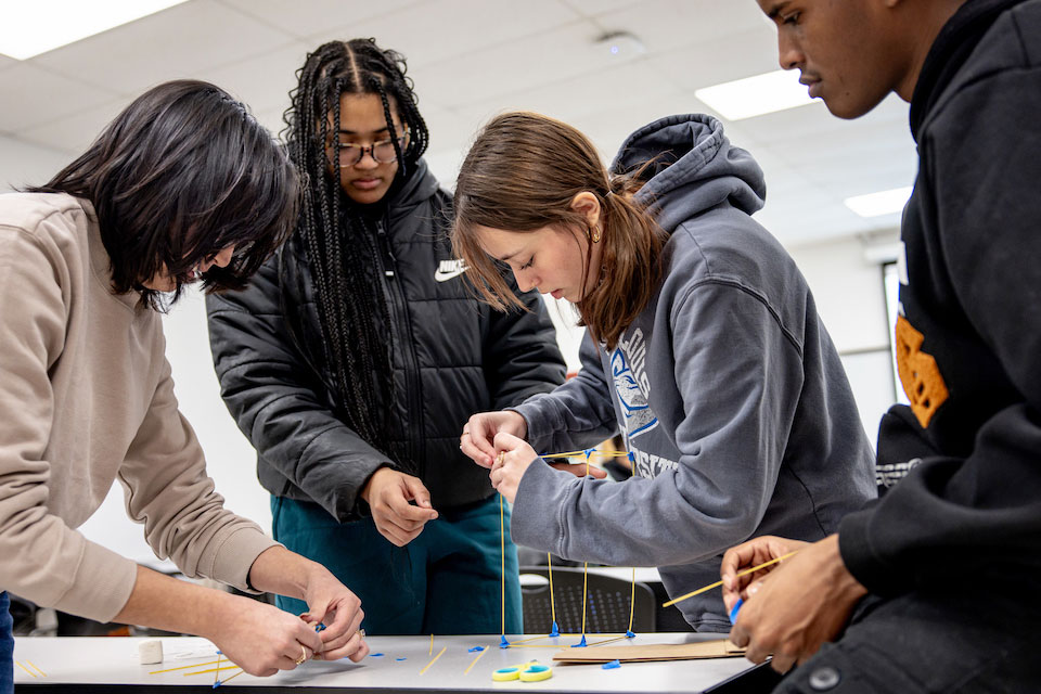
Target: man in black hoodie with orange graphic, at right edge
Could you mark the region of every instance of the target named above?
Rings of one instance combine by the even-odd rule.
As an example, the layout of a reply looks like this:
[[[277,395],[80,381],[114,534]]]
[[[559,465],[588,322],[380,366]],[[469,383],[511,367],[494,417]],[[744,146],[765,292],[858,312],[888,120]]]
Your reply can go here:
[[[732,548],[731,639],[779,671],[804,664],[783,692],[1037,691],[1041,0],[758,1],[781,65],[833,114],[911,102],[896,325],[911,406],[885,415],[878,452],[914,464],[835,536]]]

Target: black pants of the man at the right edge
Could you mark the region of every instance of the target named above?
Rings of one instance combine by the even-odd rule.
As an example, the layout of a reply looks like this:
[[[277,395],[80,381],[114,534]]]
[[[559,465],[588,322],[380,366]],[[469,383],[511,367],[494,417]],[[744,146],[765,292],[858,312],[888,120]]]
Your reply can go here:
[[[1041,600],[1032,592],[869,596],[846,632],[775,693],[1041,692]]]

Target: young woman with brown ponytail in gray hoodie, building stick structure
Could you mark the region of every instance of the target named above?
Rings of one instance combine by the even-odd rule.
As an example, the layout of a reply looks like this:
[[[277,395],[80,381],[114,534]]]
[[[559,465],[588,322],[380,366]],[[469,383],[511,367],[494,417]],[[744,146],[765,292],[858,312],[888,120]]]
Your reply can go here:
[[[718,120],[634,132],[611,170],[574,128],[531,113],[478,134],[453,243],[498,307],[522,291],[574,303],[578,376],[476,414],[461,448],[513,502],[513,539],[565,558],[657,566],[670,595],[719,578],[759,535],[818,540],[875,494],[853,396],[795,262],[751,214],[762,171]],[[539,458],[626,438],[634,476],[576,478]],[[537,451],[539,453],[537,453]],[[579,467],[579,466],[573,466]],[[728,631],[719,593],[679,603]]]

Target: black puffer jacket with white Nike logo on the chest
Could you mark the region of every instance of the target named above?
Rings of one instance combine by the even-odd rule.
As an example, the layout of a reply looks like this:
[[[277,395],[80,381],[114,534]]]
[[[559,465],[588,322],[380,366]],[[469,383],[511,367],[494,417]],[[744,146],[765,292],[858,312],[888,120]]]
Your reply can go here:
[[[364,512],[359,492],[384,465],[417,475],[435,509],[488,498],[488,471],[459,450],[463,424],[474,412],[517,404],[564,381],[538,294],[522,297],[531,312],[502,313],[474,298],[446,224],[436,221],[451,198],[424,162],[387,201],[376,220],[383,267],[375,274],[391,311],[398,401],[389,421],[397,440],[378,448],[408,451],[411,464],[390,460],[337,414],[352,403],[334,385],[298,235],[248,287],[206,299],[221,396],[257,449],[260,484],[319,503],[340,522]]]

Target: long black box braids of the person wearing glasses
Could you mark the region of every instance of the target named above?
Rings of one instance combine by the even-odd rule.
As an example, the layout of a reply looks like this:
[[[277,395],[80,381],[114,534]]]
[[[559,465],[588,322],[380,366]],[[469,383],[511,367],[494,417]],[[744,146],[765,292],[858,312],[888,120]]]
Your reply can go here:
[[[394,185],[409,178],[426,151],[429,131],[406,70],[404,57],[381,49],[375,39],[323,43],[298,70],[284,116],[283,134],[304,189],[297,233],[318,290],[326,358],[347,424],[377,448],[388,438],[388,416],[375,413],[372,404],[380,401],[378,394],[395,391],[394,345],[389,331],[384,335],[380,330],[390,324],[390,309],[381,279],[370,271],[381,262],[372,221],[343,192],[339,156],[327,156],[326,144],[339,146],[343,94],[377,94],[398,160]],[[391,101],[409,131],[403,149]]]

